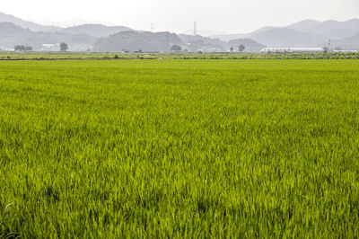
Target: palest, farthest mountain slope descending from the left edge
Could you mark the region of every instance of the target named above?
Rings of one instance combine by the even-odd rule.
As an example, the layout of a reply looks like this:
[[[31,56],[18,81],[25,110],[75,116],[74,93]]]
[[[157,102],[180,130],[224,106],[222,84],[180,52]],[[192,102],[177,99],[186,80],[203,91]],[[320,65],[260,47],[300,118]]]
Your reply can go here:
[[[12,22],[13,24],[18,25],[18,26],[22,27],[23,29],[30,29],[31,31],[55,32],[55,31],[60,30],[60,28],[56,27],[56,26],[39,25],[34,22],[24,21],[20,18],[13,16],[13,15],[5,14],[5,13],[0,13],[0,22]]]

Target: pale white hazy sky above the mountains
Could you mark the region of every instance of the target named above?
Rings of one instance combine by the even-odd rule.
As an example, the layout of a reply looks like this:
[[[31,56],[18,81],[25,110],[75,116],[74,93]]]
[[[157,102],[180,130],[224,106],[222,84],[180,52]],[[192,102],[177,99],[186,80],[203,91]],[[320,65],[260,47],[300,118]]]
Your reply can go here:
[[[37,22],[74,18],[113,22],[138,30],[228,33],[285,26],[303,19],[359,18],[359,0],[0,0],[0,12]],[[78,22],[78,21],[77,21]]]

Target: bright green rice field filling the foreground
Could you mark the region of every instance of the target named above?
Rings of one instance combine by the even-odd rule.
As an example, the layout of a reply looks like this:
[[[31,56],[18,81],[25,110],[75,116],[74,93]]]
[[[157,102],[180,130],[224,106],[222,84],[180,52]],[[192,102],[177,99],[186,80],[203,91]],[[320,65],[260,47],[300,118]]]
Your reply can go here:
[[[0,212],[0,237],[357,238],[359,60],[1,61]]]

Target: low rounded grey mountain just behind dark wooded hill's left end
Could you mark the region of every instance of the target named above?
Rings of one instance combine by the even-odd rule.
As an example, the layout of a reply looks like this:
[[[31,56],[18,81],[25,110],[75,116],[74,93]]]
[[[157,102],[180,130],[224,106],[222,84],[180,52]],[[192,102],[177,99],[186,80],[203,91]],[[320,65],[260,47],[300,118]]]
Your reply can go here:
[[[96,38],[108,37],[109,35],[120,31],[132,31],[132,29],[123,26],[105,26],[102,24],[83,24],[74,27],[68,27],[60,32],[69,34],[87,34]]]

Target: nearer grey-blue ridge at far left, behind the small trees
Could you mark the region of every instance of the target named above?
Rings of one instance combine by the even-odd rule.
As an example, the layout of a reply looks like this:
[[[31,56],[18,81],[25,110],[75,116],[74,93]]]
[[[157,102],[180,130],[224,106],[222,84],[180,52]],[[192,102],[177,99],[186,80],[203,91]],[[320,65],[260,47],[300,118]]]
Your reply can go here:
[[[11,22],[0,22],[0,47],[12,49],[15,45],[31,46],[42,49],[43,44],[57,44],[65,41],[71,50],[92,47],[96,38],[85,34],[30,31]]]

